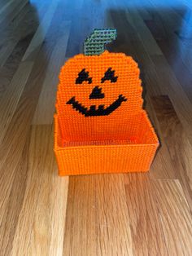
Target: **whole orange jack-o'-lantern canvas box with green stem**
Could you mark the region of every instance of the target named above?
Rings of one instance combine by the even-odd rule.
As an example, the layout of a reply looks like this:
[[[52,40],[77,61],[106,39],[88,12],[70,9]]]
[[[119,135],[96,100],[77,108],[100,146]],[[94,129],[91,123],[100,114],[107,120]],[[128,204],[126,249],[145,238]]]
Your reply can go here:
[[[137,63],[104,51],[115,38],[116,29],[94,29],[84,54],[61,69],[55,114],[60,175],[150,169],[159,142],[142,109]]]

